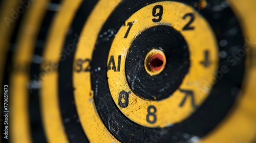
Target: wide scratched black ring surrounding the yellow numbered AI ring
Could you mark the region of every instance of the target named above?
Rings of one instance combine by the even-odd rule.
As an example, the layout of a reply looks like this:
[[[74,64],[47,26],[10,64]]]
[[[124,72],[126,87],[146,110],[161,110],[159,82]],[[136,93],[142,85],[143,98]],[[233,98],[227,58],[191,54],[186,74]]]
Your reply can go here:
[[[108,30],[116,33],[124,21],[134,12],[146,6],[146,4],[155,2],[160,1],[122,1],[105,22],[100,34]],[[193,7],[199,1],[183,0],[179,2]],[[228,56],[230,56],[232,53],[230,51],[231,47],[236,46],[238,49],[243,49],[244,41],[238,20],[230,7],[214,11],[214,6],[220,6],[221,3],[224,3],[224,1],[207,1],[207,7],[200,10],[199,13],[206,18],[211,28],[215,31],[218,42],[223,39],[227,41],[227,45],[219,46],[219,50],[228,52]],[[237,34],[229,35],[228,31],[231,28],[236,28]],[[162,133],[161,137],[158,135],[157,141],[159,142],[187,141],[193,136],[203,137],[222,121],[232,107],[239,92],[239,90],[232,89],[241,89],[245,57],[241,57],[234,66],[226,59],[220,59],[218,70],[221,71],[221,67],[226,65],[229,72],[224,74],[212,87],[208,98],[194,114],[179,124],[164,128],[167,131],[164,133],[161,128],[143,127],[126,118],[111,97],[106,76],[106,61],[113,39],[114,36],[109,37],[108,40],[104,37],[98,37],[93,53],[91,83],[94,91],[94,101],[101,120],[109,131],[122,142],[149,141],[151,137],[156,137],[159,132]],[[102,70],[94,71],[98,67]]]

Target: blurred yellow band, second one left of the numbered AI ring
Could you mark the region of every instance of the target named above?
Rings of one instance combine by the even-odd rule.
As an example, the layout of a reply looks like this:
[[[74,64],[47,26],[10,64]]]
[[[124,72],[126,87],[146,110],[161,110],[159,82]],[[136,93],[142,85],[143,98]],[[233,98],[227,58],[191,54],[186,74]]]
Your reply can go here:
[[[46,49],[43,53],[44,63],[41,67],[41,111],[42,120],[49,142],[69,142],[63,127],[58,99],[58,62],[61,58],[62,45],[65,42],[67,30],[71,25],[73,17],[81,4],[81,0],[65,0],[61,4],[60,11],[54,19],[53,25],[46,42]],[[54,48],[53,48],[54,47]],[[55,70],[54,70],[55,68]],[[42,68],[44,69],[44,68]]]

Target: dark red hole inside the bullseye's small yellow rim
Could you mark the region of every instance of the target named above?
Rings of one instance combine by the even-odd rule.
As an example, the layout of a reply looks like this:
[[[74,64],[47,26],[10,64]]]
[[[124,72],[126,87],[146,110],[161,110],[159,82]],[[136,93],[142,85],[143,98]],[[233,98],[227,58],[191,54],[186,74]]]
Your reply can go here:
[[[163,61],[164,61],[164,59],[161,54],[155,54],[150,59],[150,67],[153,70],[158,71],[163,67]]]

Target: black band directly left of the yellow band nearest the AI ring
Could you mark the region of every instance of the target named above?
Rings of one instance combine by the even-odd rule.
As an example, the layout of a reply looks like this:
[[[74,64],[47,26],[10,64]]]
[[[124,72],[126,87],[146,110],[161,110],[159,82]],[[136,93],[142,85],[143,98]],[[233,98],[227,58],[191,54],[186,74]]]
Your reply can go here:
[[[61,61],[58,67],[58,96],[60,112],[63,125],[67,133],[69,142],[89,142],[85,132],[82,129],[79,116],[77,114],[74,100],[73,82],[73,61],[79,35],[82,31],[90,12],[98,0],[83,1],[77,10],[73,22],[70,26],[70,33],[66,36],[63,44]],[[89,21],[90,22],[90,21]],[[87,109],[84,109],[87,110]]]

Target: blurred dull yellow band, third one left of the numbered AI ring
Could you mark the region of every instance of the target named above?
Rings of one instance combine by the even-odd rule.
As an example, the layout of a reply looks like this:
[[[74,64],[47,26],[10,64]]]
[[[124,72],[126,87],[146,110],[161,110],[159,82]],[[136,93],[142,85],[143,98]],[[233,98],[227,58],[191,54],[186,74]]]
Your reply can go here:
[[[22,28],[19,31],[17,49],[14,54],[14,67],[26,67],[32,61],[35,41],[39,28],[47,9],[46,0],[38,0],[31,3],[30,9],[22,22]],[[28,95],[29,90],[27,83],[29,83],[29,73],[22,71],[14,71],[10,78],[10,137],[12,142],[32,142]]]

